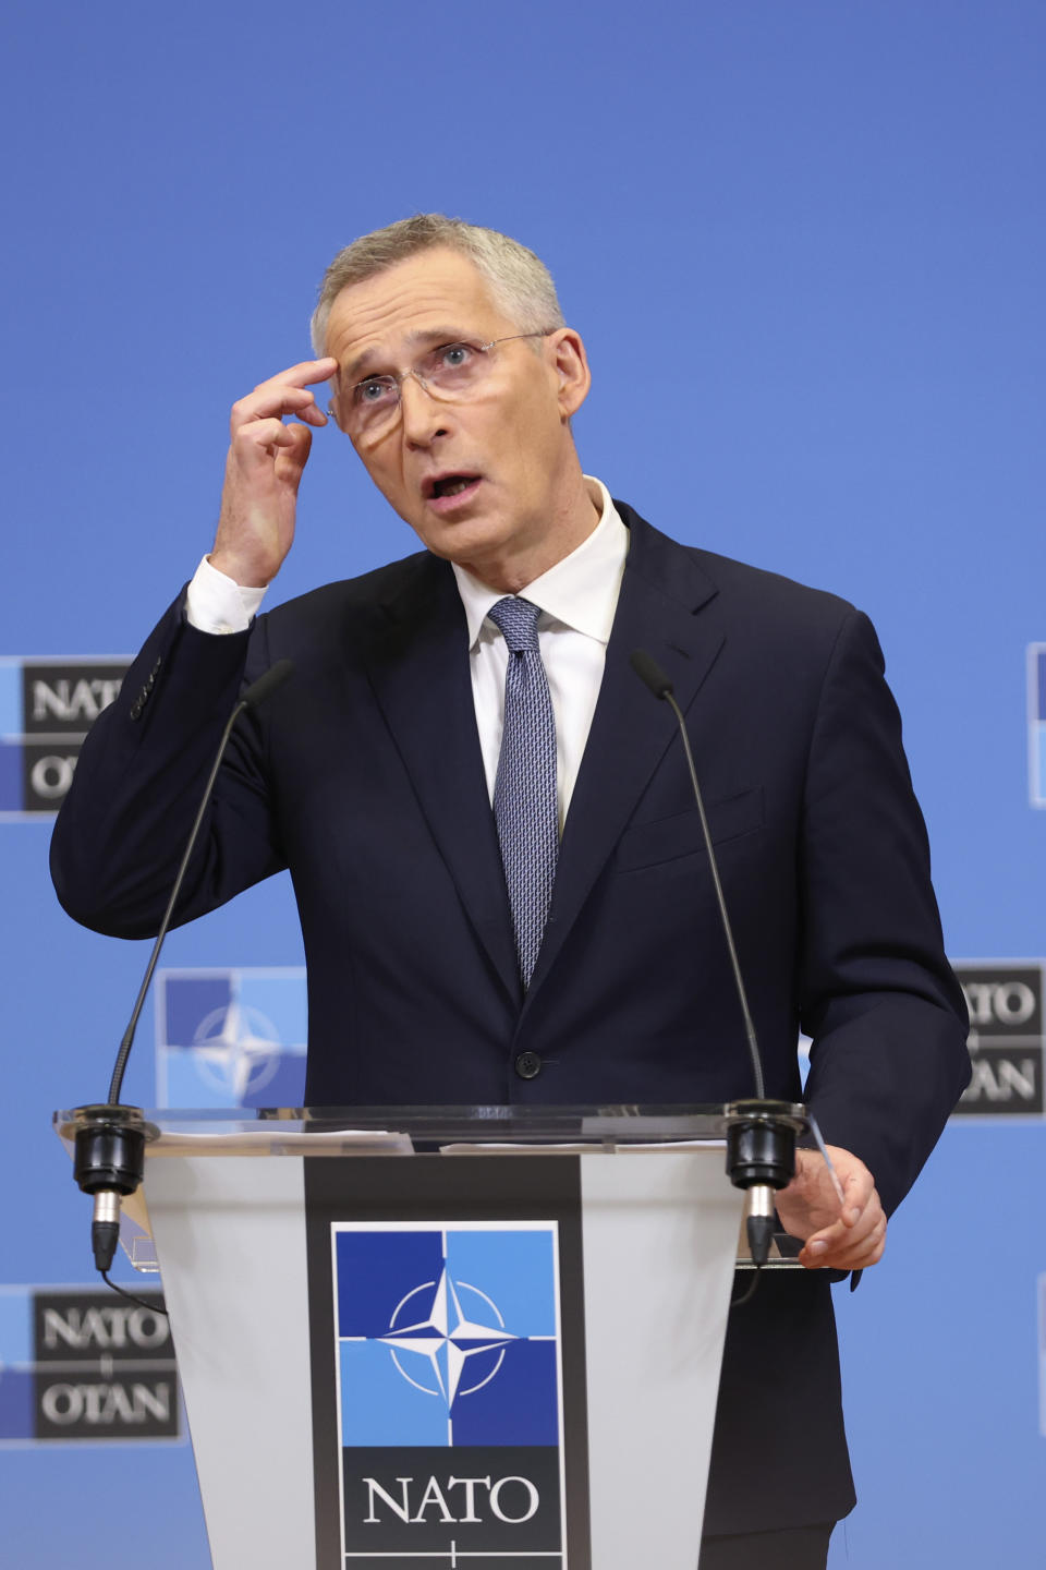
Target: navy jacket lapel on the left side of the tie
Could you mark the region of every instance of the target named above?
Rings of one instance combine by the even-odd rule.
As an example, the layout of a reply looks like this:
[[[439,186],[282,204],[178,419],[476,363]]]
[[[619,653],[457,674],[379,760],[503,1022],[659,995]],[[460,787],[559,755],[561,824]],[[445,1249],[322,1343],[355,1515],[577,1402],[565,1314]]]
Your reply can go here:
[[[464,608],[445,562],[417,557],[412,581],[380,608],[365,652],[375,697],[464,909],[518,1002],[505,874],[475,724]]]

